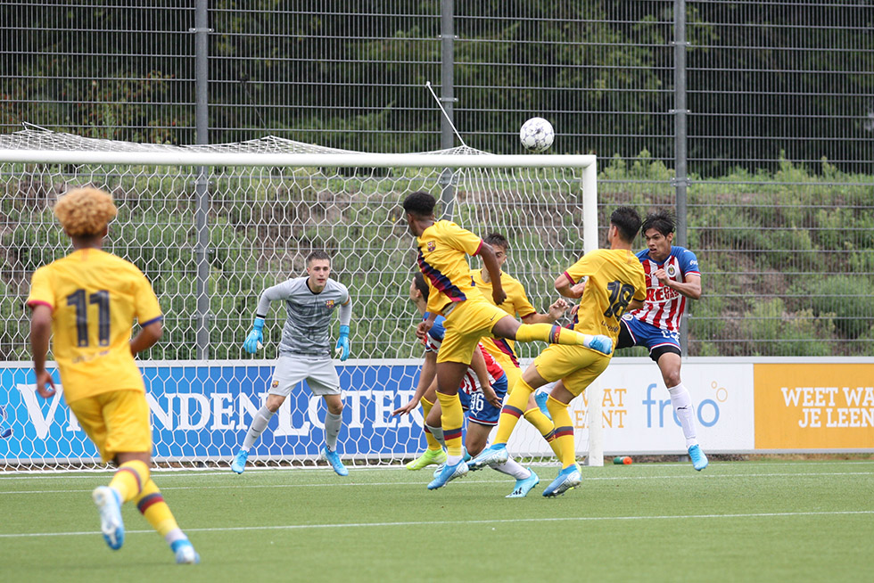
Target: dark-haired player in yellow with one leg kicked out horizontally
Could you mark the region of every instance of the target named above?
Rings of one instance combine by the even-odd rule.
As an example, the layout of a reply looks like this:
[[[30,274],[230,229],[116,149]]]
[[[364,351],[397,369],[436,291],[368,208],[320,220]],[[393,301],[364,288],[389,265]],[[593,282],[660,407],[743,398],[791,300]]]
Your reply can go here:
[[[418,325],[417,335],[424,337],[438,315],[446,318],[446,333],[437,353],[437,399],[441,405],[441,426],[446,443],[447,461],[440,475],[428,484],[438,489],[467,473],[462,459],[461,426],[464,412],[458,388],[474,349],[486,335],[520,342],[545,341],[553,344],[586,346],[609,354],[613,341],[603,334],[577,333],[558,325],[520,324],[497,306],[507,294],[500,285],[500,269],[491,245],[475,234],[447,220],[434,218],[437,201],[431,194],[410,194],[403,202],[409,232],[416,236],[418,265],[431,284],[428,297],[430,316]],[[486,301],[474,287],[467,265],[468,255],[480,255],[489,270],[494,304]],[[527,398],[526,398],[527,402]]]

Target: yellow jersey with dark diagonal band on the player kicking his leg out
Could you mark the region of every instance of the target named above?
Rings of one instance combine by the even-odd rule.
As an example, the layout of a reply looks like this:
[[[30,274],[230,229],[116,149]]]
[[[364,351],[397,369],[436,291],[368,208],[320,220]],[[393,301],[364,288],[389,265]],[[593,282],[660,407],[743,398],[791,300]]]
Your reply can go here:
[[[429,312],[442,314],[443,308],[452,302],[480,296],[470,275],[467,256],[480,252],[482,239],[455,223],[441,220],[426,228],[416,244],[419,269],[432,288]]]

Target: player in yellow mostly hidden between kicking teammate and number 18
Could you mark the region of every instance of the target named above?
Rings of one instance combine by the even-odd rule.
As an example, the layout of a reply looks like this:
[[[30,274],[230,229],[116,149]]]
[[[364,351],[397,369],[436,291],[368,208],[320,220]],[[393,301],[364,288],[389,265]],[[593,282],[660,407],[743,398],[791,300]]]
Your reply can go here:
[[[565,314],[568,308],[567,302],[559,298],[551,306],[548,313],[539,314],[528,300],[528,295],[525,293],[524,285],[515,279],[512,275],[507,274],[504,270],[504,264],[507,262],[507,253],[510,250],[510,244],[507,239],[499,233],[487,234],[482,241],[491,245],[495,250],[495,259],[498,259],[498,267],[500,269],[501,287],[507,293],[507,300],[499,305],[510,316],[518,315],[524,324],[553,324],[558,318]],[[488,269],[474,269],[471,271],[474,278],[474,284],[479,288],[482,296],[486,300],[491,301],[491,275]],[[507,384],[510,387],[515,385],[515,382],[522,376],[522,369],[519,367],[519,359],[515,353],[514,343],[510,340],[502,338],[483,338],[482,346],[491,354],[495,360],[504,369],[507,374]],[[546,407],[548,394],[546,392],[532,393],[528,399],[528,405],[525,407],[523,414],[524,418],[531,423],[543,439],[553,447],[556,455],[558,455],[557,443],[555,442],[556,426],[552,423]]]

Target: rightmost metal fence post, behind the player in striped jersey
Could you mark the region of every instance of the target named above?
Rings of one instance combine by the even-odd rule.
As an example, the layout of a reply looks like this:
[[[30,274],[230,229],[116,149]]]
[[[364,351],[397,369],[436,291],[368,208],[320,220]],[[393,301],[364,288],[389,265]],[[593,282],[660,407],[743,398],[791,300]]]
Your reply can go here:
[[[678,245],[688,244],[686,236],[686,0],[673,4],[673,94],[674,94],[674,188],[677,193]],[[688,316],[680,322],[680,348],[688,356]]]

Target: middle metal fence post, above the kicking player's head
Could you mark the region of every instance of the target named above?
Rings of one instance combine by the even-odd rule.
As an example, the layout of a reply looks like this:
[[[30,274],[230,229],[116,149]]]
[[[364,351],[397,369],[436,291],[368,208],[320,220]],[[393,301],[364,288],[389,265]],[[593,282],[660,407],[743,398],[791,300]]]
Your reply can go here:
[[[440,147],[449,149],[455,146],[455,2],[441,1],[441,65],[440,65],[440,101],[445,116],[441,116]],[[440,175],[440,201],[443,207],[443,218],[452,219],[455,207],[455,173],[445,168]]]

